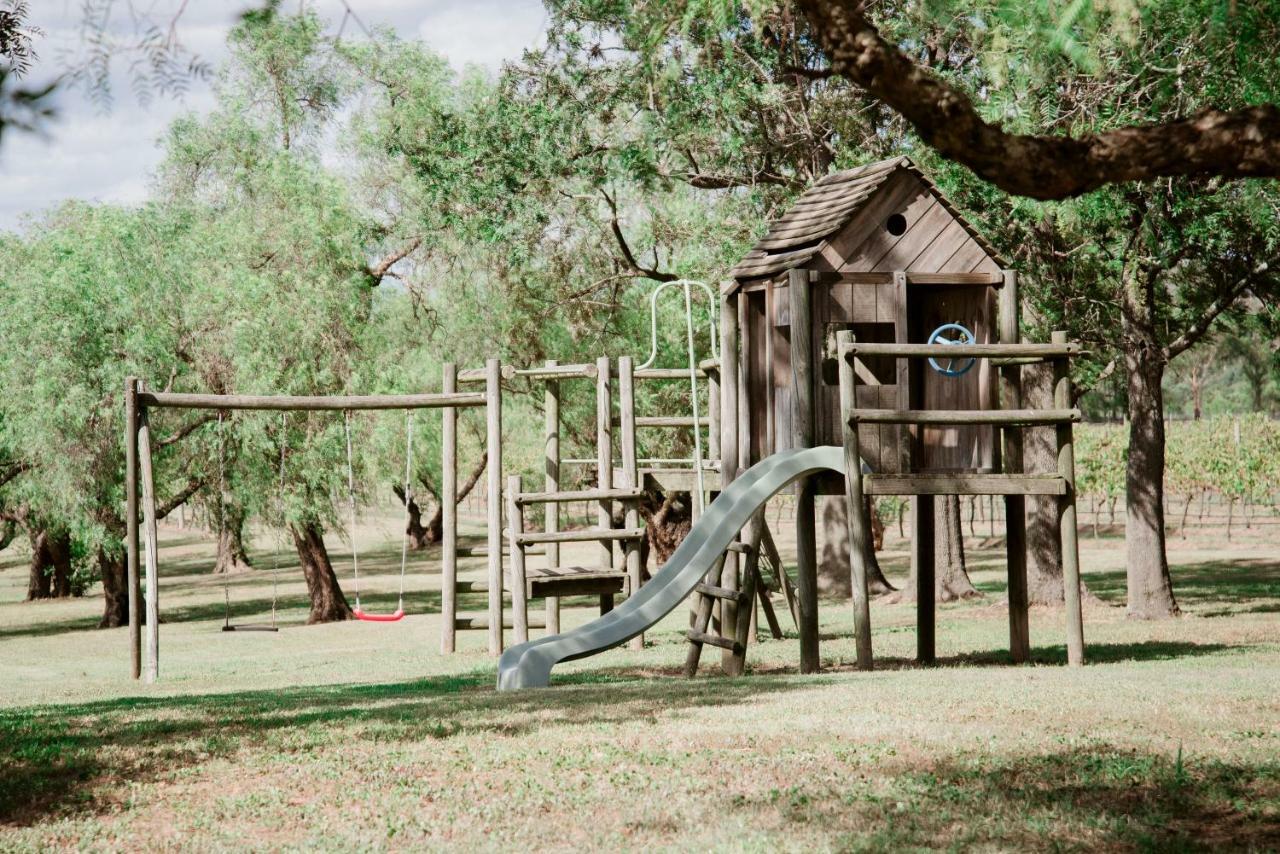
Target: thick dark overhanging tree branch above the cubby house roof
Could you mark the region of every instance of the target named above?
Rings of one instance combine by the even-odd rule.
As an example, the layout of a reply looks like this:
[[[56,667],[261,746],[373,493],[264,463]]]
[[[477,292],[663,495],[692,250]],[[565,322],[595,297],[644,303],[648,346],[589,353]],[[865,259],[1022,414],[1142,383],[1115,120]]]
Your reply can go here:
[[[831,68],[905,118],[940,155],[1018,196],[1069,198],[1169,175],[1280,175],[1280,108],[1202,110],[1080,137],[1007,133],[963,91],[884,41],[855,0],[796,0]]]

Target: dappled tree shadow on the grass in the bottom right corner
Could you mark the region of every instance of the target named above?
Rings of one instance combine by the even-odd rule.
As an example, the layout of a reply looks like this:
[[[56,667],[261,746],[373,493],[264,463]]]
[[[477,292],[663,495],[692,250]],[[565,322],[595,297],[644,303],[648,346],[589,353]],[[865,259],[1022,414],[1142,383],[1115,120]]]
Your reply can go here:
[[[1280,764],[1224,762],[1107,743],[1012,757],[963,754],[877,767],[879,785],[832,803],[820,821],[849,845],[884,850],[1274,850]],[[801,784],[803,785],[803,784]],[[863,794],[863,796],[856,796]],[[815,796],[820,796],[815,793]],[[791,802],[803,802],[792,794]],[[828,813],[828,814],[820,814]],[[868,844],[868,842],[876,844]],[[856,844],[855,844],[856,842]]]

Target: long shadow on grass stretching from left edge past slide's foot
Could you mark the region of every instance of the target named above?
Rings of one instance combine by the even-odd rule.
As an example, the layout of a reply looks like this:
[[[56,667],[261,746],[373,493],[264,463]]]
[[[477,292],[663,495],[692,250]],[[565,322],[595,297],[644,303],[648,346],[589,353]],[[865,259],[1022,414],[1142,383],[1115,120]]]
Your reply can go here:
[[[166,777],[241,749],[308,750],[347,727],[379,743],[475,732],[531,735],[547,726],[620,726],[678,707],[733,705],[801,682],[623,682],[608,675],[557,680],[554,690],[499,694],[492,670],[381,685],[333,685],[170,698],[119,698],[0,711],[0,825],[100,810],[122,780]],[[548,714],[552,720],[548,720]],[[370,732],[372,731],[372,735]]]

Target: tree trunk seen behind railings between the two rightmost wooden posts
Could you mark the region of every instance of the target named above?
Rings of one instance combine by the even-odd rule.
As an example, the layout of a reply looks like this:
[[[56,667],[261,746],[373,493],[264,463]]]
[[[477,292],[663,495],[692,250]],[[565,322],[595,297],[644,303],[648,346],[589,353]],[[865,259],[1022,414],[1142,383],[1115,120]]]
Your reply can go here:
[[[1052,366],[1023,367],[1023,402],[1028,408],[1053,408]],[[1023,431],[1023,470],[1028,474],[1057,474],[1057,428],[1028,428]],[[1027,600],[1060,606],[1062,593],[1062,538],[1053,495],[1027,497]]]

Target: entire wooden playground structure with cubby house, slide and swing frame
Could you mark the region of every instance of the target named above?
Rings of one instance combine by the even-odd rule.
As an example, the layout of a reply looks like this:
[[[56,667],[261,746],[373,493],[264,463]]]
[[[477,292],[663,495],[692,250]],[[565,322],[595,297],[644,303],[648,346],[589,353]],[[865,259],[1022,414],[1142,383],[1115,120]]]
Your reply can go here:
[[[783,593],[800,638],[800,668],[819,667],[817,533],[819,494],[842,494],[849,507],[849,556],[858,665],[872,667],[867,585],[869,520],[874,495],[913,499],[913,563],[916,577],[916,654],[934,658],[933,495],[1002,495],[1006,506],[1010,652],[1030,654],[1027,613],[1027,495],[1055,497],[1061,516],[1066,590],[1068,658],[1083,663],[1079,598],[1070,359],[1075,344],[1055,333],[1048,344],[1021,343],[1018,278],[960,218],[906,157],[823,178],[758,242],[718,294],[712,357],[694,351],[694,284],[682,286],[687,364],[639,367],[628,356],[595,364],[538,367],[444,367],[442,392],[380,397],[241,397],[164,394],[127,387],[128,553],[131,589],[138,581],[138,506],[146,530],[146,668],[159,673],[155,495],[150,471],[147,411],[156,407],[214,410],[440,408],[443,412],[442,641],[452,652],[456,632],[484,630],[490,654],[503,653],[504,630],[517,647],[499,662],[502,688],[544,685],[554,663],[594,654],[643,632],[692,598],[686,673],[701,650],[722,650],[726,672],[745,668],[758,611],[781,636],[768,586]],[[657,292],[654,293],[657,301]],[[657,314],[654,314],[657,318]],[[654,321],[657,323],[657,321]],[[654,341],[657,329],[654,326]],[[719,341],[717,348],[716,342]],[[928,343],[919,343],[928,342]],[[718,352],[717,352],[718,351]],[[1021,406],[1021,366],[1050,362],[1056,379],[1053,408]],[[544,387],[545,476],[526,489],[518,476],[503,480],[502,380],[526,378]],[[559,410],[568,383],[594,380],[595,457],[561,457]],[[637,414],[637,382],[687,382],[689,414]],[[484,392],[458,388],[484,384]],[[699,411],[705,384],[707,415]],[[465,407],[486,416],[488,577],[457,577],[457,417]],[[1021,430],[1055,428],[1057,471],[1023,471]],[[641,457],[636,434],[645,429],[694,431],[694,456]],[[704,457],[701,434],[707,434]],[[563,489],[567,466],[594,466],[595,487]],[[741,479],[741,483],[737,483]],[[138,485],[141,480],[141,499]],[[506,485],[506,490],[503,487]],[[671,561],[641,585],[639,501],[649,489],[689,490],[694,526]],[[797,495],[795,589],[764,524],[773,494]],[[708,498],[709,506],[703,507]],[[563,530],[559,507],[591,502],[596,522]],[[616,524],[614,504],[622,507]],[[541,530],[526,530],[526,515],[543,508]],[[506,516],[506,522],[504,517]],[[504,543],[509,570],[504,567]],[[564,566],[561,545],[599,544],[595,566]],[[531,557],[543,566],[532,566]],[[762,566],[772,568],[765,584]],[[460,616],[460,592],[485,593],[486,613]],[[504,594],[509,594],[507,616]],[[616,597],[626,594],[617,608]],[[602,616],[559,635],[559,604],[568,595],[599,597]],[[529,615],[543,598],[545,618]],[[133,672],[141,666],[138,597],[131,598]],[[759,607],[756,606],[759,602]],[[718,626],[718,630],[716,627]],[[547,638],[530,641],[530,629]]]

